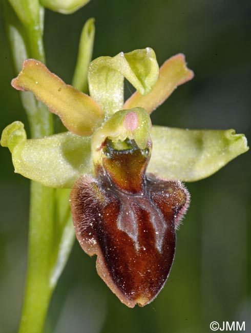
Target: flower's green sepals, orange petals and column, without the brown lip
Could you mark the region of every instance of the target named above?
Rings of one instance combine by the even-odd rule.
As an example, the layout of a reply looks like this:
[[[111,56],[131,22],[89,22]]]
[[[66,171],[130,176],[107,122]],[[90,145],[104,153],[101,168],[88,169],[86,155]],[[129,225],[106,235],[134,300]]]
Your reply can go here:
[[[125,103],[124,77],[137,89]],[[208,177],[248,150],[245,136],[234,130],[152,128],[149,117],[192,77],[182,54],[166,60],[158,70],[152,49],[135,50],[92,61],[88,96],[29,59],[12,81],[13,87],[33,92],[70,132],[27,140],[23,124],[16,121],[3,131],[1,144],[10,149],[15,172],[53,188],[71,188],[81,175],[92,174],[106,138],[118,149],[123,149],[127,138],[140,149],[152,139],[148,172],[161,177],[182,181]]]

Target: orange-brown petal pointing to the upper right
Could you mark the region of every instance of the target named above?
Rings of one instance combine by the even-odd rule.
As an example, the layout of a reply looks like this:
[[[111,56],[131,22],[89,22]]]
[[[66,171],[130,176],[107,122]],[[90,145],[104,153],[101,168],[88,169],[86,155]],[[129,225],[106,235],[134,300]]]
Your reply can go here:
[[[123,109],[141,107],[149,114],[160,106],[172,92],[194,77],[193,71],[186,67],[183,54],[177,54],[165,61],[159,69],[159,77],[152,91],[142,96],[135,92],[124,103]]]

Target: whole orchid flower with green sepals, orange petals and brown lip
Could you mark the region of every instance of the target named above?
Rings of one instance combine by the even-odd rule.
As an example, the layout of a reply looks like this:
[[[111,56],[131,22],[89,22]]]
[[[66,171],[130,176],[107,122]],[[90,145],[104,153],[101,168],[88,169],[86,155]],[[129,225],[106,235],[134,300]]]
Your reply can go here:
[[[124,102],[124,78],[136,92]],[[90,96],[35,59],[12,80],[58,115],[69,132],[27,139],[23,123],[3,131],[15,172],[52,188],[72,188],[71,210],[83,250],[129,307],[151,302],[174,260],[176,230],[189,206],[181,183],[214,174],[248,150],[230,130],[152,126],[150,114],[193,78],[183,54],[158,67],[151,48],[99,57]]]

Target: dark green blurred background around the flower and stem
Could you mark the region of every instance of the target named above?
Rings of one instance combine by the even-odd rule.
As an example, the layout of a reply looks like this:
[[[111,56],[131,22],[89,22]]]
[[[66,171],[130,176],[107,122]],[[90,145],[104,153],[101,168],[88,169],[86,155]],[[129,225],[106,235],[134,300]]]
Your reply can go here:
[[[96,19],[94,58],[150,46],[161,65],[185,54],[195,78],[155,111],[154,124],[234,128],[250,141],[249,1],[91,0],[72,15],[47,11],[47,65],[67,83],[89,17]],[[2,131],[14,120],[27,121],[10,86],[14,74],[2,26],[0,44]],[[14,174],[7,149],[1,148],[0,156],[0,330],[12,333],[24,294],[29,180]],[[177,233],[169,280],[157,299],[127,308],[97,276],[95,258],[75,242],[52,297],[46,332],[201,333],[211,331],[211,321],[245,321],[251,331],[250,153],[187,188],[191,206]]]

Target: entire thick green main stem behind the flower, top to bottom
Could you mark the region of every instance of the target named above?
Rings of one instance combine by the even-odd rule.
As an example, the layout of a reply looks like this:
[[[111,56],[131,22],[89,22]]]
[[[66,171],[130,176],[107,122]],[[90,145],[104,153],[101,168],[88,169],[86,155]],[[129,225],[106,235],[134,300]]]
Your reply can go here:
[[[45,61],[43,46],[44,9],[40,8],[36,27],[25,27],[18,13],[6,0],[2,0],[6,34],[9,39],[13,67],[18,73],[23,61],[29,57]],[[16,11],[18,7],[15,7]],[[28,36],[28,37],[27,37]],[[32,138],[53,134],[53,118],[41,102],[31,93],[21,93]],[[50,302],[50,258],[53,244],[54,190],[31,182],[29,245],[26,291],[19,333],[40,333]]]

